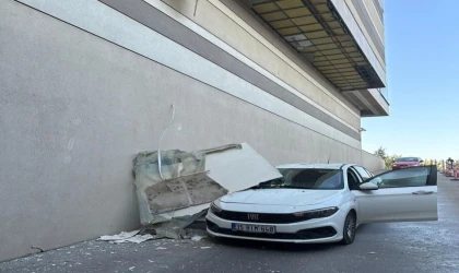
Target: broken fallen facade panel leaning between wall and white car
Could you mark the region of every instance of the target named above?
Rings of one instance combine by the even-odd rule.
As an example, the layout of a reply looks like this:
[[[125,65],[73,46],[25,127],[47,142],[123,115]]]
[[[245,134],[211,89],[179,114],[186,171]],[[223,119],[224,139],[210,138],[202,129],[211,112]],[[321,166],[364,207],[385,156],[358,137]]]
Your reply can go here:
[[[220,197],[281,177],[246,143],[139,153],[133,171],[142,225],[195,215]]]

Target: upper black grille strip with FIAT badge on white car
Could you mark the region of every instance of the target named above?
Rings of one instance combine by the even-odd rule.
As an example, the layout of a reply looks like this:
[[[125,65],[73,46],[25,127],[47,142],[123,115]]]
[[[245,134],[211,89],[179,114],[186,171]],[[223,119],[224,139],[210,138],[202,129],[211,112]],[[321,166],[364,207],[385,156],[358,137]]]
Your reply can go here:
[[[254,216],[256,215],[256,216]],[[216,216],[223,219],[246,222],[246,223],[264,223],[264,224],[291,224],[310,219],[307,216],[294,216],[293,214],[273,214],[273,213],[248,213],[221,211]]]

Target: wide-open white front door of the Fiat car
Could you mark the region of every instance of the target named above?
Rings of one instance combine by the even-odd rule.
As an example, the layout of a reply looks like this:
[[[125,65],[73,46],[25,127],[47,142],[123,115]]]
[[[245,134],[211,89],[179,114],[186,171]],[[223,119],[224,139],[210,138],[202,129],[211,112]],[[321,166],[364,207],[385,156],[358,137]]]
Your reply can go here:
[[[390,170],[363,183],[377,190],[353,190],[361,223],[437,221],[436,166]],[[362,185],[363,185],[362,183]]]

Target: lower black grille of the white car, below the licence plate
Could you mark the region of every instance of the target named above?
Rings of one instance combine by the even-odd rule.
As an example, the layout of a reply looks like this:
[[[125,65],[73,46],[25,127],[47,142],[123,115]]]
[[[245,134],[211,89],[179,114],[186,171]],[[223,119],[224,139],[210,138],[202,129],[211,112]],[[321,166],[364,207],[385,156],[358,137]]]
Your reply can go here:
[[[246,233],[246,232],[234,232],[229,228],[221,228],[209,219],[207,219],[207,224],[210,230],[217,234],[244,236],[244,237],[252,237],[252,238],[263,238],[263,239],[311,240],[311,239],[329,238],[337,235],[337,230],[331,226],[302,229],[293,234],[286,234],[286,233],[252,234],[252,233]]]

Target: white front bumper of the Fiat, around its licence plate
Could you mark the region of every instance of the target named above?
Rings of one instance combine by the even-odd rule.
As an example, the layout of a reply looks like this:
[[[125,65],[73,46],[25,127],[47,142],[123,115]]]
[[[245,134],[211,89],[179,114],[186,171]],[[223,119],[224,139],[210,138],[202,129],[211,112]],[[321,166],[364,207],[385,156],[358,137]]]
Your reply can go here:
[[[316,218],[292,224],[261,224],[227,221],[220,218],[211,212],[208,212],[208,215],[205,216],[208,233],[215,237],[295,244],[319,244],[340,241],[343,238],[342,230],[344,218],[345,214],[341,211],[338,211],[336,214],[326,218]],[[269,235],[233,232],[233,223],[260,226],[275,226],[275,234]]]

